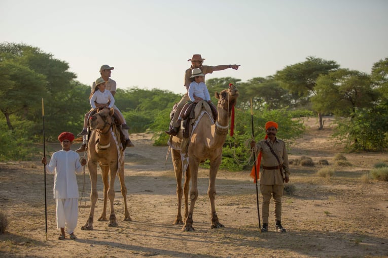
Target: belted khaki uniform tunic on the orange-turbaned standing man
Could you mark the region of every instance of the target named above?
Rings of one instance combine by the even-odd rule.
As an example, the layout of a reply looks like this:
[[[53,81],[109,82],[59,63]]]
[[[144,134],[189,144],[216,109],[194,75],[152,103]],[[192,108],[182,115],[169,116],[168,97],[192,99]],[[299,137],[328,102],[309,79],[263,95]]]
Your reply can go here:
[[[271,142],[269,139],[261,140],[256,144],[255,151],[256,153],[262,152],[261,164],[263,166],[277,166],[279,162],[277,161],[275,155],[272,154],[266,142],[268,141],[269,145],[272,147],[273,151],[276,153],[277,157],[280,160],[280,163],[283,165],[284,176],[290,175],[290,169],[288,164],[288,153],[286,149],[286,144],[284,141],[275,139],[275,142]],[[260,171],[260,184],[261,185],[283,185],[283,178],[280,174],[280,169],[263,169]]]

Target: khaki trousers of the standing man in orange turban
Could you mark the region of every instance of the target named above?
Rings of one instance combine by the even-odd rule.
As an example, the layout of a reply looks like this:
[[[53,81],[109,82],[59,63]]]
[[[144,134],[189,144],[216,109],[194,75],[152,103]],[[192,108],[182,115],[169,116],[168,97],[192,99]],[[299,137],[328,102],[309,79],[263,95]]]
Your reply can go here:
[[[268,224],[269,201],[273,197],[275,203],[275,219],[281,221],[281,196],[283,196],[284,185],[260,185],[260,192],[263,196],[261,206],[263,223]]]

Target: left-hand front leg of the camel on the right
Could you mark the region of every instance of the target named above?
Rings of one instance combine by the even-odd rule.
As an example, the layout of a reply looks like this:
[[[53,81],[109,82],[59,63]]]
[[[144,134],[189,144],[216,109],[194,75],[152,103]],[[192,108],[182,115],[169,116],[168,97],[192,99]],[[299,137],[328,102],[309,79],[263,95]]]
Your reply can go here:
[[[193,212],[195,201],[198,199],[198,166],[199,161],[194,158],[189,158],[190,171],[192,173],[191,177],[191,189],[190,189],[190,209],[189,214],[186,218],[185,225],[182,228],[182,231],[194,231],[193,228]]]

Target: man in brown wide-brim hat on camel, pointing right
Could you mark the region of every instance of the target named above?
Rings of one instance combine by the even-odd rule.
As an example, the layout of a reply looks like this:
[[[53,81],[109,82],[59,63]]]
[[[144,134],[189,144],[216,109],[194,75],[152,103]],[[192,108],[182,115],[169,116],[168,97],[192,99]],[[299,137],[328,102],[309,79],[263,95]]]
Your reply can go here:
[[[217,66],[209,66],[209,65],[202,65],[203,61],[205,59],[201,57],[200,54],[194,54],[192,58],[188,59],[187,61],[191,61],[191,66],[185,71],[185,80],[184,80],[184,86],[186,87],[186,94],[182,97],[180,102],[178,103],[177,110],[174,113],[174,116],[172,117],[171,120],[171,129],[169,131],[165,131],[169,135],[177,135],[179,127],[181,126],[178,123],[178,118],[179,114],[185,105],[187,101],[189,101],[189,96],[187,94],[187,91],[189,89],[190,85],[190,76],[191,76],[191,71],[195,68],[201,69],[202,73],[205,75],[207,73],[213,73],[214,71],[222,71],[228,68],[232,68],[234,70],[237,70],[240,65],[236,64],[230,64],[230,65],[217,65]]]

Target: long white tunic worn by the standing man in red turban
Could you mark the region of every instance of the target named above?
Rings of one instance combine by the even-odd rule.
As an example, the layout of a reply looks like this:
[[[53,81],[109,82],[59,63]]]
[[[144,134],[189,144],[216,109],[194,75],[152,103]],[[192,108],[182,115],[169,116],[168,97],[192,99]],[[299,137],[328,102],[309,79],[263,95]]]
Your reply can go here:
[[[78,153],[72,150],[54,152],[46,165],[46,173],[53,174],[54,171],[54,199],[78,198],[76,173],[83,171]]]

